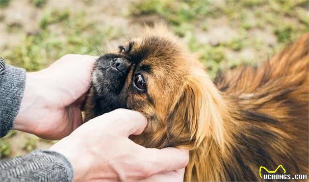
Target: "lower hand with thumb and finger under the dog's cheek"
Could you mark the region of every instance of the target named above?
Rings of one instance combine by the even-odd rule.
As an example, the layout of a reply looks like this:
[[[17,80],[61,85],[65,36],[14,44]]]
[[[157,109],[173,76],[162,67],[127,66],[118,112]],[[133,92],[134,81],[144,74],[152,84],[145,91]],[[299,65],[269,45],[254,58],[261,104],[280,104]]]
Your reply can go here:
[[[51,150],[71,162],[74,181],[182,181],[188,151],[147,149],[129,139],[146,125],[139,112],[116,109],[83,124]]]

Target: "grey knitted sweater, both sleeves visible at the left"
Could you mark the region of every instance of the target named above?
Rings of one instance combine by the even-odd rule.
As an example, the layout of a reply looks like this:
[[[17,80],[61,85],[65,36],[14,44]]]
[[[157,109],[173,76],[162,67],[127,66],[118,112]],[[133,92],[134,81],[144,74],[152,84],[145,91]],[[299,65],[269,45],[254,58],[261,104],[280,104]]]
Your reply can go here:
[[[0,137],[14,126],[24,95],[26,72],[0,58]],[[1,143],[0,143],[1,144]],[[1,157],[1,156],[0,156]],[[26,156],[0,160],[1,182],[71,182],[73,167],[61,154],[36,150]]]

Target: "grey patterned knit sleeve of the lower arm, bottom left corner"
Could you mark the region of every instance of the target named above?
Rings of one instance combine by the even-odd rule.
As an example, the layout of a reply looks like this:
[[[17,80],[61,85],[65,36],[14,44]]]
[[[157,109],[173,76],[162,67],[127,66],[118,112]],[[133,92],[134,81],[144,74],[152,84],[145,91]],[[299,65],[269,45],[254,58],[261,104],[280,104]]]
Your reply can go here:
[[[36,150],[26,156],[0,160],[1,182],[72,182],[73,167],[61,154]]]

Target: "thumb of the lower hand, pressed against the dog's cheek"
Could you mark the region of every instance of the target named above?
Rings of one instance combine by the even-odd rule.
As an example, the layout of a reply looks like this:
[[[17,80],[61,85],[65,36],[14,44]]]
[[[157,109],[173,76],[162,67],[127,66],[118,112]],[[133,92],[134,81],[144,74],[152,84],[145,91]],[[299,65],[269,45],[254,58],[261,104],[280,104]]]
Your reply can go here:
[[[109,129],[125,137],[141,134],[147,125],[147,119],[140,112],[128,109],[116,109],[103,115],[102,120],[109,121]]]

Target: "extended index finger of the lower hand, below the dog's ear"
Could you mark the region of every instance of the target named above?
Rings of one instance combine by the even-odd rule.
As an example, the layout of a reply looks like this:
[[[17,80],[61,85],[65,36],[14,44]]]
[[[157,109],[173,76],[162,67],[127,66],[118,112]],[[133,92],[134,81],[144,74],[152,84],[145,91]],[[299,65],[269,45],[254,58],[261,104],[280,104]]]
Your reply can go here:
[[[153,174],[184,168],[189,161],[189,151],[177,148],[146,149],[143,155],[152,166]]]

